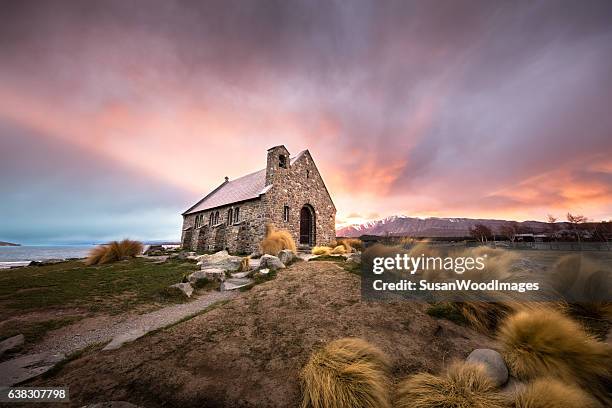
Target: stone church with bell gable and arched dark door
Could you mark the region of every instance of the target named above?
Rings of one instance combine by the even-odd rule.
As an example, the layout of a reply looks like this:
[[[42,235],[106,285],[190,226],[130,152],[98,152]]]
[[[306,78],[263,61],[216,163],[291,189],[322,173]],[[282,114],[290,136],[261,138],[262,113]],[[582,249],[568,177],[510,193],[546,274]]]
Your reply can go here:
[[[335,240],[336,207],[308,150],[290,157],[268,149],[266,168],[228,177],[183,214],[181,243],[193,251],[252,253],[267,224],[287,230],[298,247]]]

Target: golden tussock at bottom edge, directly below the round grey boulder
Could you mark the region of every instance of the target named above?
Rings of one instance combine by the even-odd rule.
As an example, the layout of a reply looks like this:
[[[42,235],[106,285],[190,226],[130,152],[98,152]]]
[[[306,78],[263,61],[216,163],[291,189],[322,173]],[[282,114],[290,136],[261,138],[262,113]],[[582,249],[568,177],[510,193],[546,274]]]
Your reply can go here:
[[[502,408],[507,399],[480,364],[456,362],[441,376],[419,373],[399,384],[397,408]]]

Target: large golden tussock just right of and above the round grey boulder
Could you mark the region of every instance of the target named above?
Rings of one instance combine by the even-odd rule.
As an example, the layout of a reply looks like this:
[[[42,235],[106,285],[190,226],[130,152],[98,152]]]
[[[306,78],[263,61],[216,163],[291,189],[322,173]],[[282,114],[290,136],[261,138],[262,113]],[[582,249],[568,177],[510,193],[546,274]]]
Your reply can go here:
[[[600,399],[612,385],[612,351],[561,312],[524,310],[500,327],[499,341],[510,372],[519,379],[557,377],[577,382]]]

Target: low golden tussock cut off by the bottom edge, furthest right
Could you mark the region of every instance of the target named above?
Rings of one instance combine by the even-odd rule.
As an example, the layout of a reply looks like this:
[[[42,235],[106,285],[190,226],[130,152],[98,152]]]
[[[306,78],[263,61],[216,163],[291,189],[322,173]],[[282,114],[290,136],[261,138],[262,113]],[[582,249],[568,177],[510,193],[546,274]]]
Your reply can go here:
[[[554,378],[540,378],[520,388],[514,408],[595,408],[599,404],[575,385]]]

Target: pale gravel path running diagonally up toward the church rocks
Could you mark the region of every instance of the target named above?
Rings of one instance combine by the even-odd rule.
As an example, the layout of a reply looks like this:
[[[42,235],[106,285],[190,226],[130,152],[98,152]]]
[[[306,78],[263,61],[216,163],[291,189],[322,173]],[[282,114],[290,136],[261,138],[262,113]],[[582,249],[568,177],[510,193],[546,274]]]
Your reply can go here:
[[[213,291],[190,302],[164,307],[141,315],[100,316],[84,319],[51,333],[31,353],[69,355],[92,344],[109,341],[113,345],[120,346],[123,342],[135,340],[149,331],[176,323],[206,309],[215,302],[231,299],[237,295],[236,292]]]

